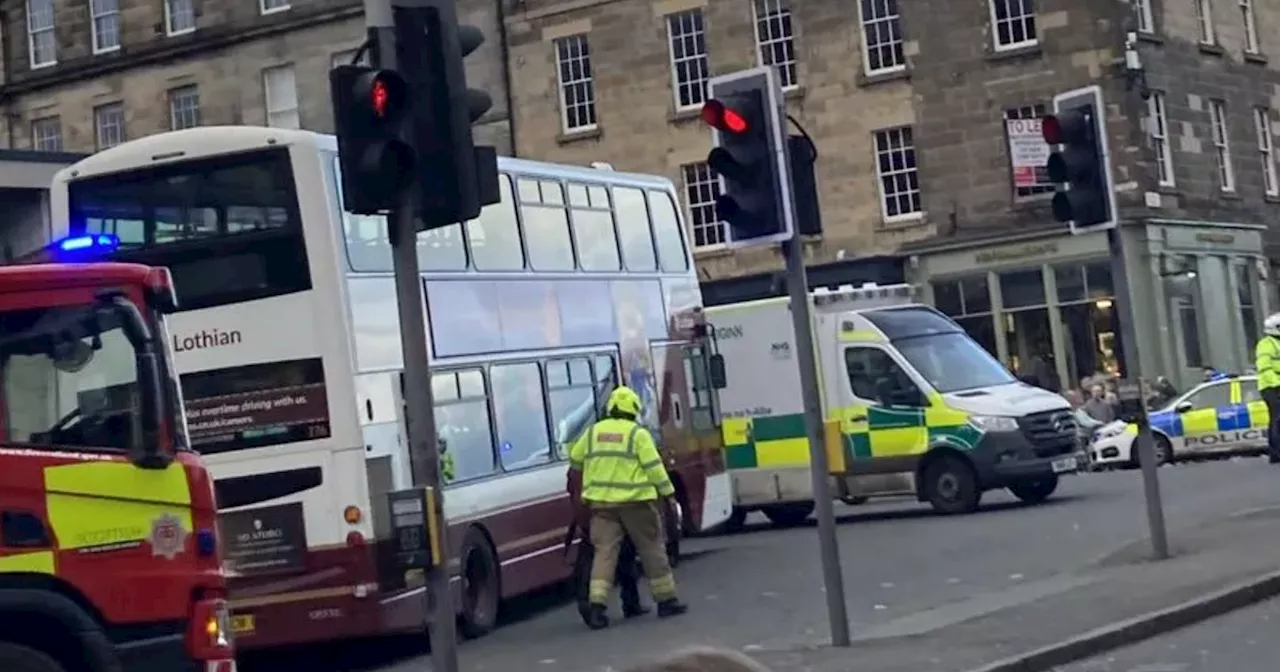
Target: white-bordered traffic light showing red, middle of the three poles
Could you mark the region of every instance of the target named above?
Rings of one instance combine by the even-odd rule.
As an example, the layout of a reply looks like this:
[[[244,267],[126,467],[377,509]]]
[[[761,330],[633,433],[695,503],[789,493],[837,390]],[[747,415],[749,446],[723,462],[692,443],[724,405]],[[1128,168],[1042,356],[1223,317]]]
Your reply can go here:
[[[772,68],[755,68],[708,83],[701,119],[714,131],[716,147],[707,164],[724,178],[716,212],[730,227],[730,247],[792,237],[787,146],[773,77]]]

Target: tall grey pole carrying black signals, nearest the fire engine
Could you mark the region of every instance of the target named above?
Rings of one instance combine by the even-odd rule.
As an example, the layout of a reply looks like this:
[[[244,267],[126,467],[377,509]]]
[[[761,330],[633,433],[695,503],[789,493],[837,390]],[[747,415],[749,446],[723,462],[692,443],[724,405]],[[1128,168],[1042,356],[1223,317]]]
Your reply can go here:
[[[419,67],[419,64],[397,63],[390,0],[365,0],[365,20],[369,36],[375,40],[371,49],[375,67],[390,65],[399,72]],[[430,488],[430,497],[435,504],[431,507],[434,515],[426,512],[434,518],[428,521],[428,529],[438,530],[442,545],[448,549],[444,502],[440,495],[443,480],[435,430],[435,403],[431,398],[431,366],[426,352],[426,312],[422,302],[422,279],[417,266],[417,224],[413,212],[413,192],[410,191],[396,211],[388,215],[392,269],[396,275],[396,306],[404,357],[404,428],[408,434],[406,439],[413,485]],[[448,550],[444,556],[448,557]],[[458,637],[452,598],[448,562],[439,566],[431,563],[426,570],[426,590],[422,599],[429,621],[431,666],[435,672],[458,671]]]

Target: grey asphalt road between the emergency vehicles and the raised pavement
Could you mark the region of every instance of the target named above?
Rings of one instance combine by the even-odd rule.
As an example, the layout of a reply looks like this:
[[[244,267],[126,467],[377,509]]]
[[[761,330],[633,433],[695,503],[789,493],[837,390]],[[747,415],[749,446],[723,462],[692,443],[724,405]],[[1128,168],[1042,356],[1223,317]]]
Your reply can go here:
[[[1261,458],[1170,466],[1160,475],[1175,541],[1179,526],[1280,506],[1280,468]],[[906,499],[837,508],[855,636],[947,603],[1047,581],[1146,535],[1137,471],[1071,476],[1059,494],[1038,507],[1021,506],[1002,492],[988,493],[983,504],[977,515],[956,517],[934,516],[927,506]],[[593,646],[618,655],[649,637],[663,645],[705,643],[746,650],[829,641],[812,525],[773,530],[762,518],[740,534],[690,540],[687,548],[691,557],[677,579],[692,607],[690,614],[588,634],[564,600],[526,599],[506,608],[504,625],[495,632],[462,645],[465,669],[552,664],[564,648],[576,646],[585,636],[596,637]],[[411,643],[343,646],[340,652],[325,650],[315,669],[388,664],[397,672],[425,669],[424,662],[404,658],[415,653]],[[285,655],[297,662],[296,653]],[[279,658],[260,660],[269,667]],[[261,668],[256,662],[246,660],[244,669]]]

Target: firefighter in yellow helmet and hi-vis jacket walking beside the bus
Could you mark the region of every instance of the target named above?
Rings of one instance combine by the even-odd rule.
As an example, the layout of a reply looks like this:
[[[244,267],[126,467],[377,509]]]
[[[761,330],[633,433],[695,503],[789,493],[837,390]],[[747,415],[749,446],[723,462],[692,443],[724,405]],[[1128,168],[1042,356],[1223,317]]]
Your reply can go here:
[[[667,562],[658,498],[676,494],[658,447],[640,417],[640,397],[626,387],[609,394],[607,416],[582,434],[570,449],[570,468],[581,471],[582,502],[591,509],[591,580],[588,585],[586,625],[608,627],[608,602],[622,541],[636,547],[658,617],[685,613],[676,594],[676,577]]]

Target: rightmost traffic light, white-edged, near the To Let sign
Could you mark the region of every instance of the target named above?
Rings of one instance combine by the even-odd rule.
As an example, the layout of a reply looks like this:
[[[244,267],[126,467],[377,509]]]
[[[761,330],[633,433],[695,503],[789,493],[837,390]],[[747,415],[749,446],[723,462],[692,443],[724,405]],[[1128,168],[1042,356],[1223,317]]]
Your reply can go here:
[[[1041,119],[1044,142],[1057,146],[1046,164],[1050,182],[1059,186],[1053,219],[1069,221],[1073,232],[1115,225],[1101,90],[1088,87],[1059,95],[1053,108],[1055,114]]]

